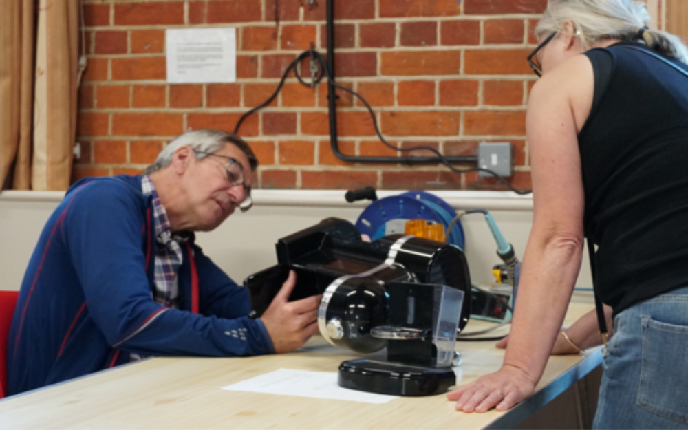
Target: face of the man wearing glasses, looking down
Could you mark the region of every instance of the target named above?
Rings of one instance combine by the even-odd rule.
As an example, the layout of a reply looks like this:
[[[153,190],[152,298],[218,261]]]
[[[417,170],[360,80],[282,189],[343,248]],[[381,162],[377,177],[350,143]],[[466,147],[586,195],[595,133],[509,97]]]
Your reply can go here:
[[[184,175],[189,197],[189,230],[209,231],[217,228],[244,201],[246,190],[250,190],[253,183],[253,172],[241,149],[228,143],[214,154],[222,156],[206,155],[202,160],[197,160],[198,155],[193,152],[190,155],[188,171]],[[229,158],[241,164],[243,184],[230,182],[226,171],[232,163]]]

